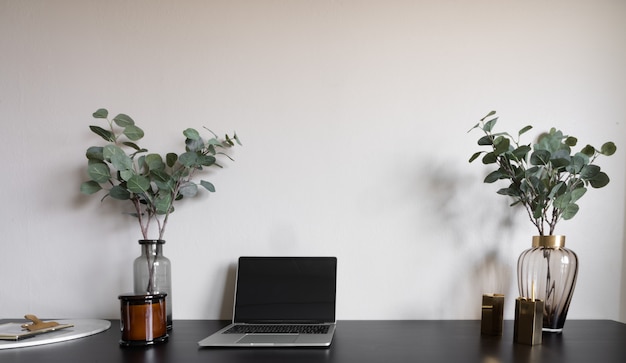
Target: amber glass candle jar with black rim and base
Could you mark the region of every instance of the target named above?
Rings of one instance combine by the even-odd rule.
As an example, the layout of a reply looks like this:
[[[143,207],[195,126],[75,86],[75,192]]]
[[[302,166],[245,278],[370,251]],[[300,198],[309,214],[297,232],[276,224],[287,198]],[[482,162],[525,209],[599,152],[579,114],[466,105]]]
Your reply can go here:
[[[151,345],[166,342],[167,294],[120,295],[120,345]]]

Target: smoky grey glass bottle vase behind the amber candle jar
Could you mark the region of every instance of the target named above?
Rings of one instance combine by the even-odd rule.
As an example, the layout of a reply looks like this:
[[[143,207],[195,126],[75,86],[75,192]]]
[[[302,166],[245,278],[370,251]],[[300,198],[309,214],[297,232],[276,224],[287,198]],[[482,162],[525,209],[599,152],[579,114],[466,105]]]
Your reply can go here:
[[[133,289],[135,294],[167,294],[165,307],[167,329],[172,329],[172,268],[163,256],[164,240],[141,239],[141,256],[133,263]]]

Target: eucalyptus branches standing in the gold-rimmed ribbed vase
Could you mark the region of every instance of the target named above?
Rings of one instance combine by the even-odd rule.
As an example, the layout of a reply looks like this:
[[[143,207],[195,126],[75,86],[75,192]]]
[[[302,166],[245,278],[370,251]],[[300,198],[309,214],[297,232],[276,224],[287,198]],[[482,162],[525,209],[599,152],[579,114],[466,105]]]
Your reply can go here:
[[[511,206],[523,205],[539,235],[552,235],[557,222],[573,218],[579,210],[576,202],[588,187],[602,188],[609,183],[608,175],[594,162],[599,155],[615,153],[613,142],[604,143],[600,149],[586,145],[579,152],[572,152],[577,138],[551,128],[539,136],[536,144],[523,144],[520,138],[532,126],[522,128],[513,137],[507,132],[493,131],[497,120],[496,112],[491,111],[470,129],[483,131],[478,145],[488,147],[488,151],[474,153],[469,162],[482,155],[483,164],[496,167],[484,182],[507,180],[508,187],[497,193],[512,197]]]

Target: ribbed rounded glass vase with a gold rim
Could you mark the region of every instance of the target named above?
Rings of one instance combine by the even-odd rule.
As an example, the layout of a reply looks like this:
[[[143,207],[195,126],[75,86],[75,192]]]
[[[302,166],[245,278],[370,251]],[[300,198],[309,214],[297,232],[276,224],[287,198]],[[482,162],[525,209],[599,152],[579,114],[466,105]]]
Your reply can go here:
[[[544,301],[543,331],[563,331],[577,276],[578,256],[565,248],[565,236],[534,236],[532,248],[520,255],[520,296]]]

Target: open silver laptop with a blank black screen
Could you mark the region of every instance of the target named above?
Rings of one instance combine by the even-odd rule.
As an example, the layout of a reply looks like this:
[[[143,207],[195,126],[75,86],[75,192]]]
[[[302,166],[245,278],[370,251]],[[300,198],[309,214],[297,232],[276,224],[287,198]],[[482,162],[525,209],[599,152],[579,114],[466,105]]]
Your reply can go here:
[[[240,257],[232,323],[201,347],[328,347],[336,257]]]

